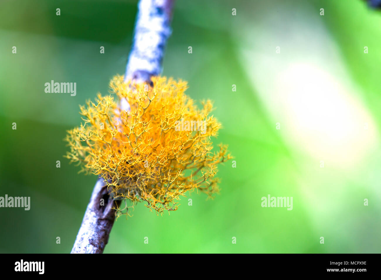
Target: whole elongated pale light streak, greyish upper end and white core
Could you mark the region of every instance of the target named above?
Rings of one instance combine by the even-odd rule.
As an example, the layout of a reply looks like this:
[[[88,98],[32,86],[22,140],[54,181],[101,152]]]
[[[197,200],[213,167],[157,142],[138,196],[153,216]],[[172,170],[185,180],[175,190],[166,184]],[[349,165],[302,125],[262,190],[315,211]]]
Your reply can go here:
[[[278,16],[269,11],[263,20]],[[378,148],[375,121],[320,18],[287,18],[287,32],[266,24],[243,30],[245,72],[296,158],[355,168]]]

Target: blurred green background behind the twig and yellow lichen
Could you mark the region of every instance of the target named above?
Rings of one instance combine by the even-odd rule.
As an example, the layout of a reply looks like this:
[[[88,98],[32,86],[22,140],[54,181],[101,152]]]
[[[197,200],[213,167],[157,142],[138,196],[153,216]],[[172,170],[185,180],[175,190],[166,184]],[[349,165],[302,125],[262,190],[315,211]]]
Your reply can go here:
[[[0,2],[0,196],[31,199],[29,211],[0,208],[1,253],[70,252],[96,177],[68,164],[62,139],[78,105],[124,74],[136,4]],[[214,200],[193,192],[170,216],[138,204],[105,253],[379,253],[381,11],[360,0],[177,1],[172,26],[163,75],[215,101],[215,143],[237,167],[219,167]],[[45,93],[51,80],[76,82],[77,95]],[[269,194],[293,197],[293,210],[262,208]]]

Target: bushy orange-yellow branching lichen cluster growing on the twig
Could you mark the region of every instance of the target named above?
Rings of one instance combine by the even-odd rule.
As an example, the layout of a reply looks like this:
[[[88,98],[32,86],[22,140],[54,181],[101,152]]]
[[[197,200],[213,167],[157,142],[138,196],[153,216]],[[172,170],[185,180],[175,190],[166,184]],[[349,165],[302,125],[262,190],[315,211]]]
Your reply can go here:
[[[86,173],[104,178],[115,199],[143,200],[151,210],[177,210],[179,197],[199,190],[208,197],[218,192],[217,164],[231,158],[226,146],[213,152],[211,136],[221,124],[211,101],[198,109],[184,92],[187,83],[153,77],[153,86],[110,81],[112,93],[130,104],[121,110],[112,95],[98,94],[80,106],[84,123],[69,130],[66,157]],[[179,130],[179,120],[205,121],[206,128]],[[177,129],[176,129],[177,126]],[[120,214],[122,209],[118,209]]]

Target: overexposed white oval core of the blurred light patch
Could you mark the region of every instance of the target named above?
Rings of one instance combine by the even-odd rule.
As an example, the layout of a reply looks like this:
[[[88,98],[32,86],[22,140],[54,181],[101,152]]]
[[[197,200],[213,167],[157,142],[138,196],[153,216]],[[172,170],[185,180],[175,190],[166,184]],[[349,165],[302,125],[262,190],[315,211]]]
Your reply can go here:
[[[291,64],[274,84],[282,134],[293,145],[339,165],[356,165],[375,146],[377,130],[371,116],[330,73],[309,64]]]

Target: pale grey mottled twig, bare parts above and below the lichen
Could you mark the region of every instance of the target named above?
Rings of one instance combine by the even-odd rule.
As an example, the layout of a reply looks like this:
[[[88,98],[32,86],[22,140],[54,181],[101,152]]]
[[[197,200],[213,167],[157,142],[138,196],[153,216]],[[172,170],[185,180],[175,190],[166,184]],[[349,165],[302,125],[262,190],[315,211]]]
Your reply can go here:
[[[140,0],[125,81],[151,83],[151,77],[160,74],[166,40],[171,34],[172,7],[173,0]],[[125,99],[120,101],[120,108],[129,110]],[[119,203],[108,193],[103,179],[98,179],[71,253],[103,253],[115,220],[112,208]]]

